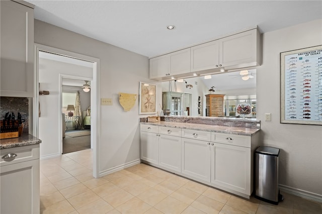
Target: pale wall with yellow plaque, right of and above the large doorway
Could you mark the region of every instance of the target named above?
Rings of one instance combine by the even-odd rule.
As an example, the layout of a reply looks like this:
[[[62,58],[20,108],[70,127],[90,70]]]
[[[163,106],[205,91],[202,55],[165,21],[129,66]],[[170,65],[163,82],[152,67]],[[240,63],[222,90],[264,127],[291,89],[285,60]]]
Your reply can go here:
[[[108,35],[107,35],[108,36]],[[139,160],[138,103],[124,112],[118,93],[139,93],[139,81],[149,80],[148,58],[89,37],[35,20],[35,43],[100,59],[100,97],[112,98],[113,105],[101,105],[98,136],[99,172]],[[157,103],[161,103],[161,95]],[[41,138],[40,138],[41,139]],[[45,144],[46,141],[43,141]]]

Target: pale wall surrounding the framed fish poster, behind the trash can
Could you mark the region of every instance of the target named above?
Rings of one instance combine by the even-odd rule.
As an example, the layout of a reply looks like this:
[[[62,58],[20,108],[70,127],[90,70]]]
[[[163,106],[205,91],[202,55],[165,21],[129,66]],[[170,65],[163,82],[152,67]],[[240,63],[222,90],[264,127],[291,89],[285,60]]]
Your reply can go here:
[[[265,33],[257,69],[263,143],[281,149],[279,183],[322,196],[322,126],[280,124],[280,52],[322,44],[322,20]],[[272,121],[264,121],[272,113]]]

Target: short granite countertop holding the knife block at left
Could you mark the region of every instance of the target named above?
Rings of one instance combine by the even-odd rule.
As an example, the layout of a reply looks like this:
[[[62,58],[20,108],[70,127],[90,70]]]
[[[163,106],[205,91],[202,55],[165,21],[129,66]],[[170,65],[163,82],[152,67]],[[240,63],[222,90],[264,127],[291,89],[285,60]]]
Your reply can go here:
[[[40,144],[41,140],[34,137],[33,135],[23,135],[19,138],[9,138],[9,139],[2,139],[0,141],[0,149],[8,149],[13,147],[19,146],[29,146]]]

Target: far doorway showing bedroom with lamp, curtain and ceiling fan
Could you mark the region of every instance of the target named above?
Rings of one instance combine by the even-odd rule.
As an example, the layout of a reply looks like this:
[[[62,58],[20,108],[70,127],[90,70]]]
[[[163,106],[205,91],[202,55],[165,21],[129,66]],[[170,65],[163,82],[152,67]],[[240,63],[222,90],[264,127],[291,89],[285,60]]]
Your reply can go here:
[[[90,80],[62,78],[62,154],[91,146]]]

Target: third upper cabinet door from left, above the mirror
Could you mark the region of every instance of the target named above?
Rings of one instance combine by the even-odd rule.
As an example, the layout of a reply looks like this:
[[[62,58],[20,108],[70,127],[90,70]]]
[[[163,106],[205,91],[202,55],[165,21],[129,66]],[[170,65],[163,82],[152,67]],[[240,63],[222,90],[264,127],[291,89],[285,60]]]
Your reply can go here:
[[[217,68],[218,62],[218,40],[191,47],[191,72]]]

